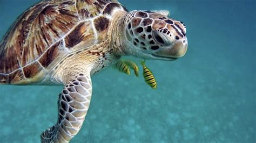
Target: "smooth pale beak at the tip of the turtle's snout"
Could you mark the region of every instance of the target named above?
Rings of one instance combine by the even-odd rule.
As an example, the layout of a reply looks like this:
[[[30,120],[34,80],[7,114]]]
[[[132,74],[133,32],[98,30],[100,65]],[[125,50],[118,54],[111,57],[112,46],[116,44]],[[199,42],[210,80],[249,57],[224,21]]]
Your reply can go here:
[[[187,38],[174,41],[171,45],[160,48],[156,54],[166,58],[181,58],[187,52]]]

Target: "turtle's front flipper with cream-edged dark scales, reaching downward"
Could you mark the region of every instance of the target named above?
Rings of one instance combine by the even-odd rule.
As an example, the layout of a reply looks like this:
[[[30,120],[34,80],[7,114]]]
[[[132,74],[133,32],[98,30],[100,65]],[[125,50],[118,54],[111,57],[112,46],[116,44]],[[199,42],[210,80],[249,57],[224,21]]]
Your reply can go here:
[[[79,74],[62,90],[57,124],[41,134],[42,142],[69,142],[83,125],[92,95],[90,74]]]

